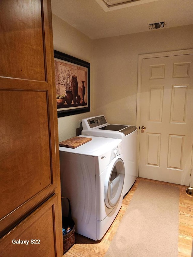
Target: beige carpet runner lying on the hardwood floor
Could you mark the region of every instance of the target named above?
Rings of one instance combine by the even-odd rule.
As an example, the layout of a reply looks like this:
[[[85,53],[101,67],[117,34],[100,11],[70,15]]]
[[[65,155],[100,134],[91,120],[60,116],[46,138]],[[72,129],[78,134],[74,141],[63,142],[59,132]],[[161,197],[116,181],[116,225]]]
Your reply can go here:
[[[140,181],[105,257],[177,257],[179,188]]]

